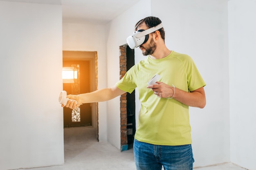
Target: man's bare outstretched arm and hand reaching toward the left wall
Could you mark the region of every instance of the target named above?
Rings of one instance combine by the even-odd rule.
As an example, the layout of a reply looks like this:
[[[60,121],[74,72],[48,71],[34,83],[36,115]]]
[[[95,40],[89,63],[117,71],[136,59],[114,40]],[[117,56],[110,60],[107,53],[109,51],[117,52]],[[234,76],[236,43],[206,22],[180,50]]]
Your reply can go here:
[[[84,93],[80,95],[67,95],[69,99],[76,100],[78,104],[75,104],[75,101],[71,102],[69,100],[67,101],[66,107],[74,109],[83,103],[105,102],[124,93],[126,92],[122,91],[117,86],[113,86],[110,88],[102,88],[91,93]]]

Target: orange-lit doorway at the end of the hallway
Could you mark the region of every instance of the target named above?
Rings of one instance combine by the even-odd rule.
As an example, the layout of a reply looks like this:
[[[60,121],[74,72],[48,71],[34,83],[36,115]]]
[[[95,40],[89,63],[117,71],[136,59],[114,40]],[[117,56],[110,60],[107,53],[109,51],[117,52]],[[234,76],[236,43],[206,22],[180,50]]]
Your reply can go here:
[[[76,71],[72,82],[63,80],[63,90],[67,94],[89,93],[97,90],[97,52],[96,51],[63,51],[63,68]],[[88,103],[72,110],[63,108],[64,128],[92,126],[98,132],[98,103]]]

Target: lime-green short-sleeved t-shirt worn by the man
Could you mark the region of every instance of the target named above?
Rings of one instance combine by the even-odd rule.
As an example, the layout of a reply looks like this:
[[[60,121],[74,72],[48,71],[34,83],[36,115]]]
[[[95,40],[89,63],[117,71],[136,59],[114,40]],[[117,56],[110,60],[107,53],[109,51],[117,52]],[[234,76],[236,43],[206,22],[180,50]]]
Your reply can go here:
[[[155,145],[178,146],[191,144],[189,106],[175,99],[160,98],[154,95],[147,82],[155,74],[159,82],[189,92],[202,86],[202,79],[191,57],[172,51],[162,59],[149,56],[135,64],[116,86],[132,93],[137,87],[141,109],[135,139]]]

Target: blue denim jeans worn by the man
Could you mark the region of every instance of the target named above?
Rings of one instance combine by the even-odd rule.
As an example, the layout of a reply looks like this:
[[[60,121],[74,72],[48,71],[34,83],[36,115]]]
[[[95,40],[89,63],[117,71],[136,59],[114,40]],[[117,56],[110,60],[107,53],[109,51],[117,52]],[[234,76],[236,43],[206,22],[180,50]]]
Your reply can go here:
[[[134,139],[133,152],[137,170],[193,170],[191,145],[152,145]]]

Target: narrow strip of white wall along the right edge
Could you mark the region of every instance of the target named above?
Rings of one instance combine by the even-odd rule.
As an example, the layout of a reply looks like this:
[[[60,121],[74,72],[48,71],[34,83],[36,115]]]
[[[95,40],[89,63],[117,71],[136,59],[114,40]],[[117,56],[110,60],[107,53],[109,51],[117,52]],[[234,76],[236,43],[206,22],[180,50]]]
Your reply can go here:
[[[229,1],[231,162],[256,170],[256,1]]]

